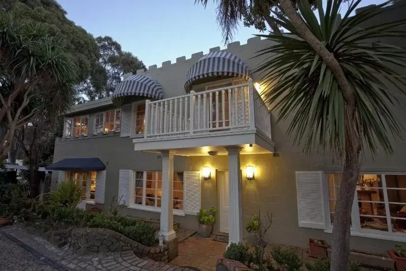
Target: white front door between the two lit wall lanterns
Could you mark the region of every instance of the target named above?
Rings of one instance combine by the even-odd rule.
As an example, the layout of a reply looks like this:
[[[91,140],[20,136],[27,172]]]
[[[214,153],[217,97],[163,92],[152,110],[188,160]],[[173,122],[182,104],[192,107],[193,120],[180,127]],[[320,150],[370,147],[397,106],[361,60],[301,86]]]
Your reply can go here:
[[[220,196],[220,231],[228,232],[228,218],[230,213],[230,196],[228,193],[228,171],[218,171]]]

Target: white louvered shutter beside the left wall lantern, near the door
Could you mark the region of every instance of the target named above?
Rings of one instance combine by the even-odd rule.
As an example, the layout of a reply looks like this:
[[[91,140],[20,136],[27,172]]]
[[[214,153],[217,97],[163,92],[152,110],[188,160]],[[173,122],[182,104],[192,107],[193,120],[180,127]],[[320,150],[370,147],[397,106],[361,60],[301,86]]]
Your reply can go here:
[[[200,173],[198,171],[185,171],[184,190],[186,215],[196,215],[200,210]]]

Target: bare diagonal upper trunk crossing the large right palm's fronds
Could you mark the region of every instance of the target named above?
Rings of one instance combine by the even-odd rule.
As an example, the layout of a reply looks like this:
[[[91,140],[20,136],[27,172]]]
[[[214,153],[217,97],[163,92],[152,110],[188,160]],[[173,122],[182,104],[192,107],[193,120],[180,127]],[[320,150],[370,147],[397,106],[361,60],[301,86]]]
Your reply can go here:
[[[333,73],[335,79],[337,80],[337,84],[341,89],[343,97],[347,104],[350,106],[355,105],[355,98],[353,89],[348,83],[347,78],[345,77],[344,71],[340,66],[340,63],[335,59],[334,55],[329,52],[326,47],[317,39],[310,29],[303,23],[302,19],[296,13],[292,3],[290,0],[280,0],[282,9],[285,12],[286,16],[289,18],[290,22],[296,28],[297,33],[299,36],[309,43],[310,46],[316,51],[318,55],[323,59],[326,63],[327,67]]]

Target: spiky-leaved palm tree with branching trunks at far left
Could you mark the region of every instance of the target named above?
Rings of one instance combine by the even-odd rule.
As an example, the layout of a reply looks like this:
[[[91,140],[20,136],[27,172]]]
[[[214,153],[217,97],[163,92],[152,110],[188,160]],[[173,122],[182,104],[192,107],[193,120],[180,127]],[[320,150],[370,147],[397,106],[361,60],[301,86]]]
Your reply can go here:
[[[74,65],[49,26],[0,11],[0,165],[15,131],[39,112],[58,114],[74,101]]]

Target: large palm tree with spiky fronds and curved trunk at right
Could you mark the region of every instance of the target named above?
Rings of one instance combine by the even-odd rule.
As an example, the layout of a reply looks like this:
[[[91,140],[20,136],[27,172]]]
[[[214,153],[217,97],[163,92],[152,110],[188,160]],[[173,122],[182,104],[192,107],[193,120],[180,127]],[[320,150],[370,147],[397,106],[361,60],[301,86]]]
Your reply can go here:
[[[328,0],[325,10],[318,0],[318,17],[306,0],[297,2],[297,10],[290,0],[280,0],[284,13],[275,20],[293,35],[261,35],[277,44],[259,52],[267,55],[258,68],[265,74],[263,98],[278,113],[278,121],[292,119],[287,132],[306,152],[327,148],[343,163],[334,211],[333,271],[348,270],[360,154],[368,149],[374,155],[380,148],[392,154],[390,138],[401,136],[391,107],[398,99],[393,90],[404,95],[406,81],[397,71],[406,68],[405,51],[383,43],[371,46],[371,41],[405,38],[406,20],[363,27],[391,1],[350,17],[360,2],[352,1],[340,19],[343,0]]]

